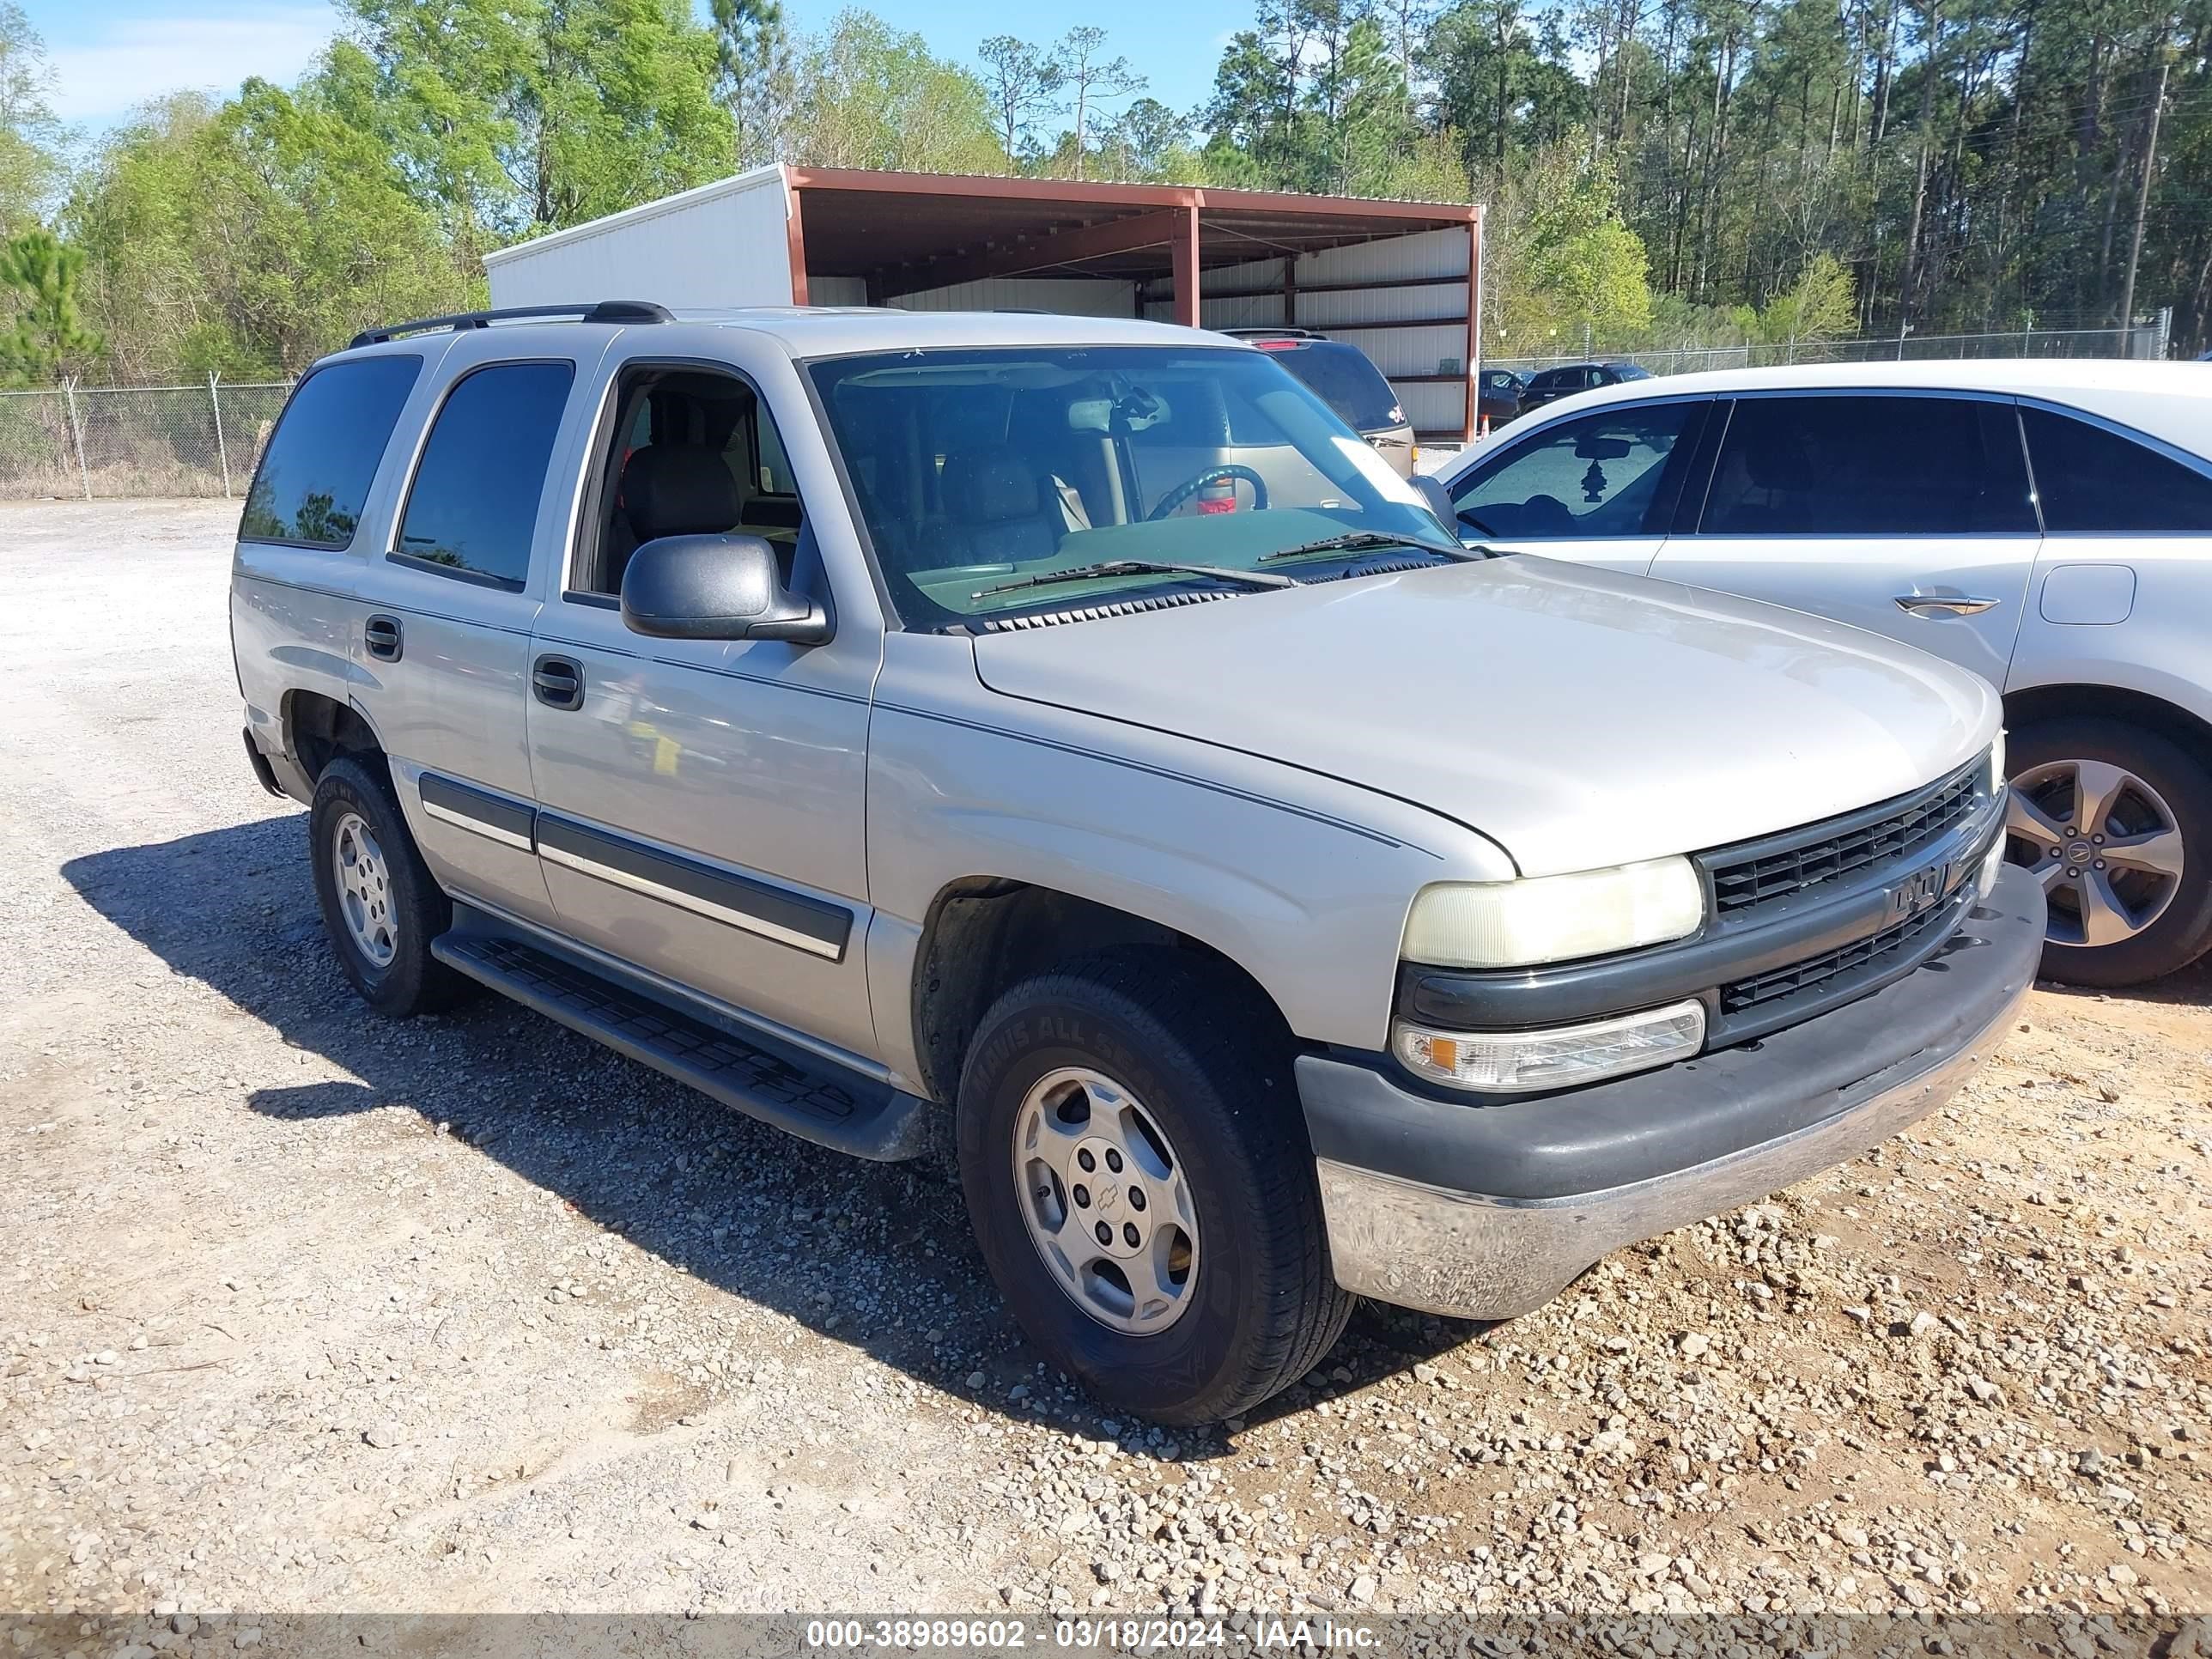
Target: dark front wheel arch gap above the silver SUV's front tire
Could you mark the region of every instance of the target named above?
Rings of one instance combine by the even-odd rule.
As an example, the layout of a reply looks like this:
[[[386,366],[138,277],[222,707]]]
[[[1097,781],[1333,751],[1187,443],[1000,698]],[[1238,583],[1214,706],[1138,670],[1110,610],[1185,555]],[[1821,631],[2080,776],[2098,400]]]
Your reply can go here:
[[[922,1093],[938,1102],[958,1095],[969,1040],[1009,987],[1115,945],[1152,945],[1214,962],[1290,1042],[1281,1004],[1217,945],[1060,887],[962,876],[931,898],[914,951],[909,1015]]]

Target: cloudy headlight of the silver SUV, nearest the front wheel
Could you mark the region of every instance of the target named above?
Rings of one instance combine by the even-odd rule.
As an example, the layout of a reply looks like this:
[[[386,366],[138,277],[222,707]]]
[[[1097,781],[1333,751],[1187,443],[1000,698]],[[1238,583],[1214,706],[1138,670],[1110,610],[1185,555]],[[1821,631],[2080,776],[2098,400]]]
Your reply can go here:
[[[1705,885],[1688,858],[1533,880],[1422,887],[1405,918],[1405,960],[1528,967],[1606,956],[1694,933]]]

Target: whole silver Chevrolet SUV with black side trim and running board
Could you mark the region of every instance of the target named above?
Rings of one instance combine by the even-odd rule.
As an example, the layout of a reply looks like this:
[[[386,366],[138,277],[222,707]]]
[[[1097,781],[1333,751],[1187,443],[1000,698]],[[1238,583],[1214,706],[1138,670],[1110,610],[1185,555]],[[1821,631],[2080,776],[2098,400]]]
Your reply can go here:
[[[869,1159],[947,1113],[1022,1329],[1168,1422],[1876,1146],[2044,936],[1980,679],[1464,549],[1219,334],[369,332],[230,619],[369,1006],[489,984]]]

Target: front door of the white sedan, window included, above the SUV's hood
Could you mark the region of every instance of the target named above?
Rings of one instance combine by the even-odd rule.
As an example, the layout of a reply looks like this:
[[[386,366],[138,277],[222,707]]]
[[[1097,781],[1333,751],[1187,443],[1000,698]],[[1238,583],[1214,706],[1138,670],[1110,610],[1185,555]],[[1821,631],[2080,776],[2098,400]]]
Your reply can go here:
[[[1659,398],[1515,427],[1451,482],[1460,535],[1641,575],[1674,518],[1710,407],[1710,398]]]

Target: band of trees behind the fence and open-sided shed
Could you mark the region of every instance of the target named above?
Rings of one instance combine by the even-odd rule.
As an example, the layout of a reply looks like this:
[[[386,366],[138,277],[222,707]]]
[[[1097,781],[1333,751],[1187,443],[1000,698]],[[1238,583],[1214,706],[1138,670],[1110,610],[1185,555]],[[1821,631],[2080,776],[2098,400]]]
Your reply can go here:
[[[82,250],[88,372],[296,369],[480,301],[489,248],[772,159],[1480,199],[1500,354],[2126,294],[2212,343],[2212,0],[1254,0],[1190,113],[1093,24],[978,73],[867,11],[792,35],[783,0],[341,7],[296,86],[161,100],[64,175],[0,0],[0,237]]]

